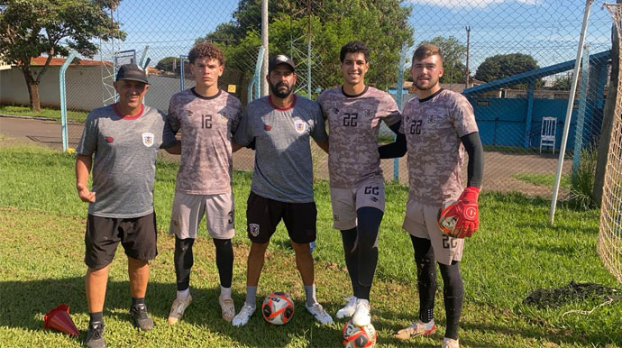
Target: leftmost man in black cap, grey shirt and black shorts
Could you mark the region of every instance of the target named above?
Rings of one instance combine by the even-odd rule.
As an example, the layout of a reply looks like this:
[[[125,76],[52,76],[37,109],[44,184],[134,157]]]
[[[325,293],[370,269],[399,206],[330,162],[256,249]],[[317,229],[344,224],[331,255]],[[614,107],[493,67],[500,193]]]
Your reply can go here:
[[[76,149],[76,188],[78,197],[88,203],[84,258],[90,316],[87,347],[105,347],[105,289],[119,243],[128,260],[133,325],[141,330],[153,327],[144,297],[149,260],[158,254],[153,212],[156,155],[160,148],[170,153],[181,150],[165,124],[166,115],[142,105],[149,89],[144,69],[135,64],[121,66],[114,89],[118,102],[88,114]]]

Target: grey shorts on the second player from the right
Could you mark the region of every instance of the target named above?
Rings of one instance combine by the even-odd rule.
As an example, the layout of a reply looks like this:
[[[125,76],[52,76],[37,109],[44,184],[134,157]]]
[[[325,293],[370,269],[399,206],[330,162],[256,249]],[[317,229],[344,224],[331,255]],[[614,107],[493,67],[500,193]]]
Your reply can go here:
[[[384,180],[369,179],[356,188],[331,188],[333,227],[349,230],[356,227],[356,211],[371,206],[384,212]]]

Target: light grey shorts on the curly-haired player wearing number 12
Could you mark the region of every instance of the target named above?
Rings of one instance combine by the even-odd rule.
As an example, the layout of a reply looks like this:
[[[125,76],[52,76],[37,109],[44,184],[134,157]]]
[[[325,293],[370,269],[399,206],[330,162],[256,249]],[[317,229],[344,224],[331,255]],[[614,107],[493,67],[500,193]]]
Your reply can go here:
[[[233,191],[216,195],[188,195],[175,192],[169,234],[179,239],[197,238],[198,224],[206,215],[207,232],[215,239],[232,239],[234,229]]]

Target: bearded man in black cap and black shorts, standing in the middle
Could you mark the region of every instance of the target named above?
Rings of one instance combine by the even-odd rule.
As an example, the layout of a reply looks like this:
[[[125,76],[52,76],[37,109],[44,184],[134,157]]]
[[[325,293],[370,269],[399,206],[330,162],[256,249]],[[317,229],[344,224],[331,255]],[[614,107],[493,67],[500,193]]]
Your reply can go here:
[[[257,285],[270,237],[282,219],[296,253],[306,294],[306,310],[321,324],[333,318],[317,303],[314,264],[309,243],[316,241],[311,144],[328,151],[328,136],[319,105],[293,93],[295,65],[283,54],[269,62],[270,96],[247,105],[233,141],[255,148],[255,169],[246,208],[252,242],[246,272],[246,301],[233,325],[246,325],[255,311]]]

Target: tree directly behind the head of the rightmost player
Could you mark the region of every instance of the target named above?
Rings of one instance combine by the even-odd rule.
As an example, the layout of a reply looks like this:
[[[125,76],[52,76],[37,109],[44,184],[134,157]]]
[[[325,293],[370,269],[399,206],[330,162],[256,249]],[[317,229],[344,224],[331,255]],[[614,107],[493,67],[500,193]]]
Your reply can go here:
[[[443,52],[443,77],[441,83],[463,83],[466,78],[466,66],[462,60],[466,58],[466,46],[453,36],[444,38],[436,36],[430,41],[422,41],[420,45],[432,43]]]

